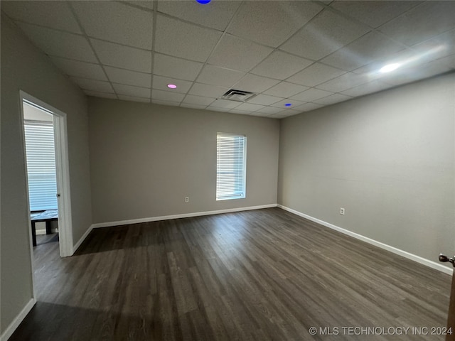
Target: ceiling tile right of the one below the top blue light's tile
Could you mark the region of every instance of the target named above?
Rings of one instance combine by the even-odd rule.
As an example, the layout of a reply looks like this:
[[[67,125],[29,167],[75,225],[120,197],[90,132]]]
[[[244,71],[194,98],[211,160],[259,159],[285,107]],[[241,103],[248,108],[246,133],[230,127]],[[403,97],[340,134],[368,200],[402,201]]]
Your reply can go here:
[[[227,34],[221,38],[208,58],[208,63],[232,70],[249,71],[270,53],[272,48]]]

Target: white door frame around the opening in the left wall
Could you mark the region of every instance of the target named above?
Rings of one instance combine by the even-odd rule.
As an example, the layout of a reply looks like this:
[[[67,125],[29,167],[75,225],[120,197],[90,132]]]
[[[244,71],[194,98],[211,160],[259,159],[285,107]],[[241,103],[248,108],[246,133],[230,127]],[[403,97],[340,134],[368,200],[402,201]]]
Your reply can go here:
[[[68,136],[67,136],[67,120],[66,114],[60,110],[50,106],[49,104],[33,97],[31,94],[19,90],[20,107],[21,107],[21,126],[22,126],[22,141],[23,141],[23,157],[26,168],[26,191],[27,191],[27,212],[30,212],[30,202],[28,200],[28,174],[27,174],[27,158],[25,145],[25,131],[23,128],[23,102],[30,102],[39,109],[53,115],[54,128],[54,144],[55,144],[55,173],[57,180],[57,193],[60,195],[57,198],[58,205],[58,237],[60,256],[68,257],[73,255],[73,224],[71,220],[71,195],[70,195],[70,163],[68,160]],[[31,264],[33,269],[33,245],[31,240],[31,219],[28,213],[28,233],[30,235],[31,249]],[[33,276],[32,276],[33,278]],[[33,296],[35,296],[35,288],[33,286]]]

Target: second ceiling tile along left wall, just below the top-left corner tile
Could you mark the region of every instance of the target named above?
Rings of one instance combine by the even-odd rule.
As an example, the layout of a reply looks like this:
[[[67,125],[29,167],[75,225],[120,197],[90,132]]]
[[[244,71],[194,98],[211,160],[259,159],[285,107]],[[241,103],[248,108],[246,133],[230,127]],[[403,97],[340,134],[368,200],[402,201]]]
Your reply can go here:
[[[48,55],[98,63],[87,39],[73,33],[64,33],[28,23],[19,23],[38,48]]]

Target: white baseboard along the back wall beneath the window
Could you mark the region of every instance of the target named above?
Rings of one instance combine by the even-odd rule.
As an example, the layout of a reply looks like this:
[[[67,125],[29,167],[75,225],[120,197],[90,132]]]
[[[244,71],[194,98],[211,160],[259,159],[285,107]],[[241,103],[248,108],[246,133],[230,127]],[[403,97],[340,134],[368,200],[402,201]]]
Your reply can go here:
[[[121,220],[118,222],[97,222],[96,224],[92,224],[91,228],[97,229],[99,227],[112,227],[112,226],[127,225],[127,224],[138,224],[141,222],[157,222],[159,220],[200,217],[203,215],[219,215],[221,213],[240,212],[240,211],[248,211],[248,210],[260,210],[262,208],[270,208],[270,207],[277,207],[277,204],[228,208],[227,210],[183,213],[181,215],[163,215],[161,217],[148,217],[148,218],[139,218],[139,219],[132,219],[132,220]]]

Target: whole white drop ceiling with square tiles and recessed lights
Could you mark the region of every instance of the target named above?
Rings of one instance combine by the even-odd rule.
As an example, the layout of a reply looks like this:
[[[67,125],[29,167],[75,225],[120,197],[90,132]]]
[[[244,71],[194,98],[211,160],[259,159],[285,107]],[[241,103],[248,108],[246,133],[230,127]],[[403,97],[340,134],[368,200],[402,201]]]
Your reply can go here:
[[[455,70],[455,1],[0,4],[96,97],[282,118]]]

